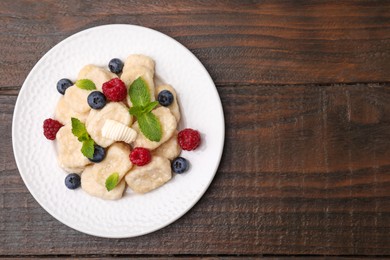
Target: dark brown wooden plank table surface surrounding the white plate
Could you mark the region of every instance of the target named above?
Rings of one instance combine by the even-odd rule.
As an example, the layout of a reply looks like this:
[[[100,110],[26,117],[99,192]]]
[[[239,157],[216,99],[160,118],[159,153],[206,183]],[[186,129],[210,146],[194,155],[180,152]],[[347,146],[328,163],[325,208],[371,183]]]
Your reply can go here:
[[[54,219],[28,192],[11,145],[34,64],[66,37],[111,23],[189,48],[226,119],[203,198],[130,239]],[[390,255],[390,1],[2,0],[0,24],[0,256]]]

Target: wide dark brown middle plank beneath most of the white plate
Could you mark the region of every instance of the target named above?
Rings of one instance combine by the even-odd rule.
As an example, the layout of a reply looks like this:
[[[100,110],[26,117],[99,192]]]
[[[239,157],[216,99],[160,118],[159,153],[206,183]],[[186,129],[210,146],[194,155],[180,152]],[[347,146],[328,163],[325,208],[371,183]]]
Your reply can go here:
[[[224,155],[205,196],[132,239],[74,231],[23,184],[0,96],[0,255],[389,255],[390,85],[229,85]]]

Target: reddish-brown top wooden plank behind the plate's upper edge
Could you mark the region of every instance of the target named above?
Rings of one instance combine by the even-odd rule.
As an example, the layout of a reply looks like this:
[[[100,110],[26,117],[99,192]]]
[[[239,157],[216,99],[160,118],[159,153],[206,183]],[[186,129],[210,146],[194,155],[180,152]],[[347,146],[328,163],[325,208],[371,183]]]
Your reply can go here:
[[[0,87],[20,86],[66,37],[110,23],[172,36],[217,84],[390,81],[389,1],[2,0]]]

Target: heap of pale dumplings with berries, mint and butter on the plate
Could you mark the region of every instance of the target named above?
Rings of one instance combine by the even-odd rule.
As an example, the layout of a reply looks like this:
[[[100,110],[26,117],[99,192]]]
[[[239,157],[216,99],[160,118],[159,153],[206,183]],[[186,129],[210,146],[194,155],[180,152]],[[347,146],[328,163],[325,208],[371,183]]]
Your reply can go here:
[[[106,200],[120,199],[126,187],[147,193],[167,183],[172,173],[189,169],[182,150],[199,147],[197,130],[179,131],[178,96],[156,84],[155,61],[142,54],[108,69],[86,65],[77,80],[60,79],[54,119],[44,135],[56,140],[59,166],[69,173],[65,185]]]

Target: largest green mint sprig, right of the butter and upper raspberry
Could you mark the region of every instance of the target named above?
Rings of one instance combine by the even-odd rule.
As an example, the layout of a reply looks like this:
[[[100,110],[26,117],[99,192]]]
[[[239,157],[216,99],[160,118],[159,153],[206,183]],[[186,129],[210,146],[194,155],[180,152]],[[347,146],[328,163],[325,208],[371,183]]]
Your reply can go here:
[[[129,109],[131,115],[137,117],[141,132],[150,141],[159,142],[162,137],[161,124],[152,110],[158,101],[150,102],[149,87],[141,77],[134,80],[129,87],[130,101],[133,106]]]

